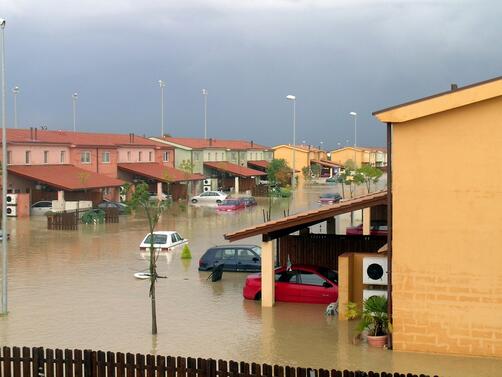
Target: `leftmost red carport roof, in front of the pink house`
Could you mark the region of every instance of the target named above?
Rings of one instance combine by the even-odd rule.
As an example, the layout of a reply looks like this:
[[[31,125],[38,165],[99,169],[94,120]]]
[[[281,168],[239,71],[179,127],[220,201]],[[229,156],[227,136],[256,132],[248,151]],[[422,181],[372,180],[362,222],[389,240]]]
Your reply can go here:
[[[66,191],[122,186],[124,181],[73,165],[9,165],[9,174]]]

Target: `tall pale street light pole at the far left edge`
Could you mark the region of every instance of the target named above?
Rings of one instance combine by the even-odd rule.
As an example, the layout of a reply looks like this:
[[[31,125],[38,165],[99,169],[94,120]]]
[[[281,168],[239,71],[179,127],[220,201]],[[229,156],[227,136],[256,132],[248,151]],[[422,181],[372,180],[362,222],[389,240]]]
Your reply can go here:
[[[2,314],[7,314],[7,110],[5,105],[5,20],[0,18],[0,59],[2,80]]]

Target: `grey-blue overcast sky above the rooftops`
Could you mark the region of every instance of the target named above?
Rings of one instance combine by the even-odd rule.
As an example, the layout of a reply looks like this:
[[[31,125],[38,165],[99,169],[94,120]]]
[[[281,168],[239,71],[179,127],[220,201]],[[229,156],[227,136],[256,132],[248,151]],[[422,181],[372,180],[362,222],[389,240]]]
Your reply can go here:
[[[0,0],[20,127],[384,145],[371,112],[501,75],[500,1]]]

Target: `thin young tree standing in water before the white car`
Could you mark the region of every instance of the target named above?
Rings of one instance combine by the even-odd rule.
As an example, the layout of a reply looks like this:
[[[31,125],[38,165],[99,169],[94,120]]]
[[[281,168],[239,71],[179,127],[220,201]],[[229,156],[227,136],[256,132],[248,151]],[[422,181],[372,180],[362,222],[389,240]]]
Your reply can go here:
[[[158,199],[150,198],[148,184],[145,182],[138,183],[134,192],[131,195],[129,205],[132,209],[142,209],[148,219],[148,230],[150,232],[150,258],[149,258],[149,271],[150,271],[150,290],[149,296],[152,303],[152,334],[157,334],[157,307],[155,302],[155,283],[157,282],[157,258],[158,253],[155,253],[153,247],[155,243],[154,234],[155,227],[159,222],[160,215],[166,210],[169,202]]]

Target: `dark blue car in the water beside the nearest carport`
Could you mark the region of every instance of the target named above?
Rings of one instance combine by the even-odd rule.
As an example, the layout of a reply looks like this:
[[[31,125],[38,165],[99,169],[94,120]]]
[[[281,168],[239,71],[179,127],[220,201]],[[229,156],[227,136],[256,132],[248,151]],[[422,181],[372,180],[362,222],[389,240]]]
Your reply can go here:
[[[256,245],[214,246],[199,259],[199,271],[210,271],[222,264],[223,271],[260,271],[261,248]]]

